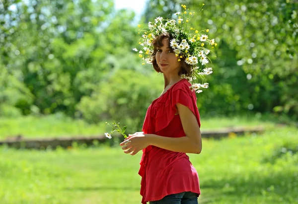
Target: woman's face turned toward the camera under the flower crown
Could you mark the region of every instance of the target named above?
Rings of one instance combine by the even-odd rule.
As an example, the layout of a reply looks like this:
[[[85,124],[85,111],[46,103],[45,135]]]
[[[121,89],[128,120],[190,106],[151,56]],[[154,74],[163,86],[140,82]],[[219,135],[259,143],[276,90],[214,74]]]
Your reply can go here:
[[[163,73],[179,72],[180,62],[175,53],[168,47],[168,39],[162,40],[162,47],[156,48],[155,60]]]

